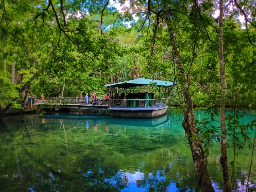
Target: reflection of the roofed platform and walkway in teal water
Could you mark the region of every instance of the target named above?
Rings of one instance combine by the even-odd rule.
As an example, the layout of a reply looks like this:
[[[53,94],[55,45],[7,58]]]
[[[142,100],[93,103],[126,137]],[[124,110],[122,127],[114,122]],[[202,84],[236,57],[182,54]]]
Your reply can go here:
[[[132,137],[158,137],[164,130],[170,130],[170,119],[165,115],[155,119],[126,119],[112,118],[111,116],[97,115],[67,115],[47,114],[43,116],[47,124],[57,124],[62,120],[65,126],[82,126],[87,130],[93,128],[95,131],[104,127],[109,136],[132,136]],[[95,126],[97,125],[97,128]]]

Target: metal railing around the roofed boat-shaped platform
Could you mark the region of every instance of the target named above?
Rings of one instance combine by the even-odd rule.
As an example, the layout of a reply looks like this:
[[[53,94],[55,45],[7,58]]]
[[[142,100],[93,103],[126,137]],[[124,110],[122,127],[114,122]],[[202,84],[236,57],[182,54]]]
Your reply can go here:
[[[110,99],[109,108],[161,108],[167,106],[168,98],[159,99]]]

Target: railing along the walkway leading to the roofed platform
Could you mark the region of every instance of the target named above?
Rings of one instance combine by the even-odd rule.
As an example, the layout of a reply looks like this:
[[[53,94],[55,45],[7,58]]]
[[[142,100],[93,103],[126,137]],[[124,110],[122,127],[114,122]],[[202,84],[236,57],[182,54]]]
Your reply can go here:
[[[37,99],[36,104],[53,104],[53,105],[108,105],[105,98],[92,98],[86,100],[85,97],[45,97]]]

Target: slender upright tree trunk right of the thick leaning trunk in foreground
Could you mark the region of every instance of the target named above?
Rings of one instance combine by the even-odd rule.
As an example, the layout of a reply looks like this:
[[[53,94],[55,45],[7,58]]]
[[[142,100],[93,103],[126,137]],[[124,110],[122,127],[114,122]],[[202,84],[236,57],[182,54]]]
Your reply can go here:
[[[225,116],[225,97],[226,97],[226,77],[223,53],[223,0],[219,2],[220,17],[219,17],[219,59],[220,59],[220,79],[221,79],[221,101],[220,101],[220,128],[221,128],[221,157],[224,191],[231,191],[231,183],[228,173],[228,157],[227,157],[227,135],[226,135],[226,116]]]

